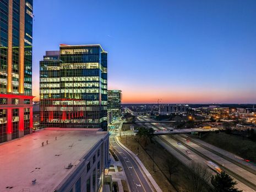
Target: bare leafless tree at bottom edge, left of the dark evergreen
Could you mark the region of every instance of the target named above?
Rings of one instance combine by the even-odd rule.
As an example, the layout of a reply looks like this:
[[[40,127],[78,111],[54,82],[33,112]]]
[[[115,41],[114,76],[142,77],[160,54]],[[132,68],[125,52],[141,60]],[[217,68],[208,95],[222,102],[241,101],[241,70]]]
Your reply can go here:
[[[189,170],[190,173],[186,175],[186,178],[189,180],[190,191],[203,191],[203,184],[210,183],[211,179],[211,173],[208,171],[208,168],[201,163],[192,161]]]

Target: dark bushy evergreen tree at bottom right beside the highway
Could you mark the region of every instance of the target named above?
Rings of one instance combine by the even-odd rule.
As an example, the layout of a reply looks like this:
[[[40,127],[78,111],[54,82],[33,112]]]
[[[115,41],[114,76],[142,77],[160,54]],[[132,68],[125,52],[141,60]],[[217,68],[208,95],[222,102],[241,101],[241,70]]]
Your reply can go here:
[[[235,182],[226,172],[216,174],[211,177],[211,184],[214,186],[216,192],[242,192],[235,188]]]

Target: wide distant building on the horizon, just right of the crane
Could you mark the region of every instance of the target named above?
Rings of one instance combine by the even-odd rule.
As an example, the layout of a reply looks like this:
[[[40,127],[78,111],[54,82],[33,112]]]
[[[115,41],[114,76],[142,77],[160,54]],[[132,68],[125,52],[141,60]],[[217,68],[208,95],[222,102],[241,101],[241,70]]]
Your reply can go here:
[[[185,113],[189,109],[188,105],[173,105],[173,104],[162,104],[160,105],[160,115],[170,115],[172,113]]]

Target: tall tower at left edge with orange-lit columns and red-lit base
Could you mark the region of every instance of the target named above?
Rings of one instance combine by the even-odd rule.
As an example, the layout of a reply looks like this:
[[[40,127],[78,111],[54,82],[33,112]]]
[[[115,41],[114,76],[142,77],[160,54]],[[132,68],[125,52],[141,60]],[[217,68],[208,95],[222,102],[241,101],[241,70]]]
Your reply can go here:
[[[32,0],[0,1],[0,143],[32,131]]]

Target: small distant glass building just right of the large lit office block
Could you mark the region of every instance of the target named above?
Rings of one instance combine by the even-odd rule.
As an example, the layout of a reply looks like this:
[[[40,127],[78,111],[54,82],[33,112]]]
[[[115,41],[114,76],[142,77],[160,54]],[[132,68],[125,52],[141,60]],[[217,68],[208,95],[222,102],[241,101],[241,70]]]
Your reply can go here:
[[[107,91],[107,111],[112,111],[112,121],[117,121],[121,117],[121,90],[108,90]],[[111,123],[111,122],[109,122]]]

